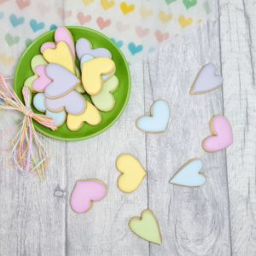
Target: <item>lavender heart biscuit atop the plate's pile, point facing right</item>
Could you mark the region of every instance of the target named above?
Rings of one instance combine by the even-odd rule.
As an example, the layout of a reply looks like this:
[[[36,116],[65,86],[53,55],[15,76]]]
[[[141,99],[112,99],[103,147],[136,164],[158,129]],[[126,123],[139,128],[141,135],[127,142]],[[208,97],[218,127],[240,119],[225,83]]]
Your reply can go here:
[[[65,96],[80,82],[73,73],[58,64],[48,64],[46,73],[52,80],[45,89],[45,96],[48,98],[54,99],[60,96]]]

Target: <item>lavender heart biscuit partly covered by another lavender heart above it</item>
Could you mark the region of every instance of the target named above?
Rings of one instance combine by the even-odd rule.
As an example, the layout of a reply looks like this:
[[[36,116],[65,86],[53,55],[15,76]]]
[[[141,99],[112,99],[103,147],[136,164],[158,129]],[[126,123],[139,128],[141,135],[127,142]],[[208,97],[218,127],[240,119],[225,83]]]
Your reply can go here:
[[[86,102],[82,95],[72,90],[66,96],[57,99],[45,98],[45,107],[51,112],[61,112],[65,108],[67,113],[79,115],[84,113]]]

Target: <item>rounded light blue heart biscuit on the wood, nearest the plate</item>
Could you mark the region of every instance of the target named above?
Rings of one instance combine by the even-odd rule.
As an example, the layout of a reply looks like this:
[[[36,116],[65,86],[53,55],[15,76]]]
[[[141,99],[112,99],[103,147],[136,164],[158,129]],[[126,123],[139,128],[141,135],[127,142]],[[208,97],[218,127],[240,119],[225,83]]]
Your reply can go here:
[[[153,103],[150,109],[151,116],[142,116],[137,119],[137,128],[146,132],[166,131],[170,119],[170,109],[168,103],[158,100]]]

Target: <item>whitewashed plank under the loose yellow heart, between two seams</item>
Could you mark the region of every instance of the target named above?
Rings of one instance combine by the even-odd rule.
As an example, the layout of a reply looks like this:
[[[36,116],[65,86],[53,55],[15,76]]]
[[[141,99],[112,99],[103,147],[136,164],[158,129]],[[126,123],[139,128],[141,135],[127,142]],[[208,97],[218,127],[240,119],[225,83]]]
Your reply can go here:
[[[98,137],[67,143],[68,195],[77,179],[99,178],[109,189],[108,196],[90,212],[76,214],[67,207],[68,255],[148,255],[148,242],[128,228],[129,219],[148,207],[146,179],[131,194],[120,192],[116,184],[119,154],[134,154],[146,164],[145,136],[134,125],[144,106],[142,63],[132,67],[131,74],[131,99],[119,121]]]

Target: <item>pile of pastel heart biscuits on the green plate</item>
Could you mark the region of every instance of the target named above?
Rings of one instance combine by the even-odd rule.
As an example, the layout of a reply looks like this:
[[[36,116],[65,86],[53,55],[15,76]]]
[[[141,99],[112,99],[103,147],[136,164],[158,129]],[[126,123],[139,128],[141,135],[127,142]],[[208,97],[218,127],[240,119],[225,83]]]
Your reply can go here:
[[[101,112],[114,108],[113,91],[119,86],[110,51],[92,49],[86,38],[75,44],[66,27],[58,27],[55,42],[42,44],[40,51],[31,61],[34,74],[24,84],[32,90],[33,107],[54,119],[57,127],[67,123],[70,131],[84,123],[100,124]]]

